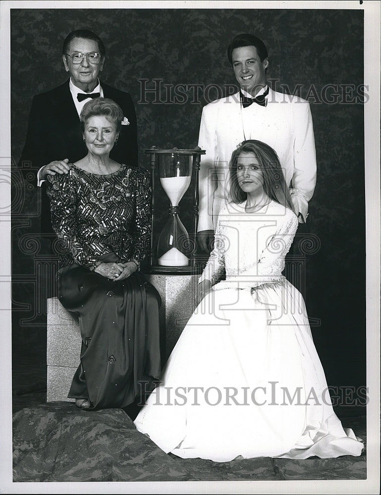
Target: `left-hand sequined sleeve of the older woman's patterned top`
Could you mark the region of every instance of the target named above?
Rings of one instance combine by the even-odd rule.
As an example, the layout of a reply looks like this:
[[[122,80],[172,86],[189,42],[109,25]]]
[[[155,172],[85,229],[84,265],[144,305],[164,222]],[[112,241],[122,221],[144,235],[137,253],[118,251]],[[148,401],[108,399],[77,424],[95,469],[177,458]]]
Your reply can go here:
[[[81,239],[76,222],[77,194],[71,175],[70,171],[67,175],[47,176],[52,226],[63,247],[71,252],[74,261],[94,270],[101,264],[99,256],[109,252],[109,249],[97,239]]]

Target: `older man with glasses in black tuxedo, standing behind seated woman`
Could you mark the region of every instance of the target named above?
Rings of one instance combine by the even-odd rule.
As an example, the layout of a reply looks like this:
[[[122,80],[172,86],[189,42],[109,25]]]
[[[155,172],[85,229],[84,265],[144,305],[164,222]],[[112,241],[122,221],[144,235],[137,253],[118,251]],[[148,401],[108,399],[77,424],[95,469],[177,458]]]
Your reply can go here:
[[[137,166],[135,107],[128,93],[99,80],[105,56],[105,46],[98,35],[88,30],[71,32],[62,49],[63,65],[70,78],[62,85],[33,98],[19,166],[29,183],[34,187],[42,186],[41,230],[44,237],[54,238],[44,181],[49,174],[68,173],[70,163],[87,153],[79,115],[90,98],[110,98],[122,108],[122,130],[110,157],[119,163]]]

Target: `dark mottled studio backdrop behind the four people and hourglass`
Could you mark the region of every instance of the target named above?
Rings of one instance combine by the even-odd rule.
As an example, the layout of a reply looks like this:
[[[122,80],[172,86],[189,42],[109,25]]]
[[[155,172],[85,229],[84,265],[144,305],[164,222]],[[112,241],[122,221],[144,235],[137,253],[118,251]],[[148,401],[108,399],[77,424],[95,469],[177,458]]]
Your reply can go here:
[[[365,385],[363,12],[13,9],[15,162],[24,144],[32,97],[66,80],[62,42],[70,31],[81,28],[95,31],[106,45],[102,80],[129,92],[136,104],[139,165],[146,168],[144,150],[152,145],[195,147],[203,105],[233,92],[235,79],[226,57],[231,39],[249,32],[265,42],[272,88],[282,91],[283,84],[294,91],[299,85],[314,120],[318,182],[308,231],[319,239],[320,248],[306,255],[304,273],[309,316],[321,321],[312,328],[314,340],[329,385]],[[177,85],[177,96],[164,85]],[[144,92],[150,89],[156,92]],[[39,231],[36,198],[24,190],[17,173],[13,178],[13,331],[16,341],[22,336],[33,345],[35,339],[46,338],[41,308],[36,308],[44,297],[36,285],[42,254],[31,242]],[[160,192],[159,199],[155,236],[168,206]],[[189,230],[190,202],[187,195],[180,203],[180,217]]]

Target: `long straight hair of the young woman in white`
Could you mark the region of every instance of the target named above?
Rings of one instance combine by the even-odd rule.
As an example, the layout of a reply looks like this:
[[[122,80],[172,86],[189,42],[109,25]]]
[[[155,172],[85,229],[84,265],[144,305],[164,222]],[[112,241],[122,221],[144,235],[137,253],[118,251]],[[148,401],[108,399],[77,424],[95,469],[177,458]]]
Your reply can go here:
[[[237,162],[241,153],[255,154],[263,174],[263,189],[265,193],[269,198],[286,208],[290,208],[295,213],[278,155],[269,145],[254,139],[243,141],[231,155],[229,162],[229,199],[233,203],[242,203],[247,198],[247,193],[241,189],[237,178]]]

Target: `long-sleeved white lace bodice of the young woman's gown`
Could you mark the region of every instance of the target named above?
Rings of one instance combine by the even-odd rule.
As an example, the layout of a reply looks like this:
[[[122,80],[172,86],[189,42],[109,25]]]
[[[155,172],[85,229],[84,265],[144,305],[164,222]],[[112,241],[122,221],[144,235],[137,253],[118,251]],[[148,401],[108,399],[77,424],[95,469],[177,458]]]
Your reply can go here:
[[[275,201],[256,213],[246,213],[245,204],[228,203],[219,213],[215,247],[199,280],[210,280],[215,289],[251,288],[282,278],[298,219]],[[223,273],[226,280],[218,283]]]

